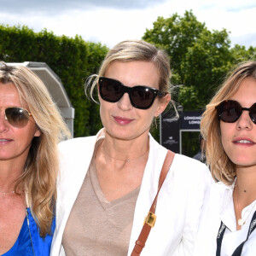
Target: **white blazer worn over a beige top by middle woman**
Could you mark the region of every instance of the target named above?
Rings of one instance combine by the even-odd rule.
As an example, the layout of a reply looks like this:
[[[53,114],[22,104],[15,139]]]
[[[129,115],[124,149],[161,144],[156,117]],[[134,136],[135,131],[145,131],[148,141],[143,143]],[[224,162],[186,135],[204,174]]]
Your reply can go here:
[[[65,255],[61,246],[67,218],[90,166],[95,137],[81,137],[60,143],[61,175],[57,183],[56,228],[51,256]],[[149,134],[148,162],[137,197],[128,255],[137,241],[145,216],[157,193],[166,148]],[[175,154],[172,167],[160,189],[155,214],[157,216],[141,255],[192,255],[195,235],[201,215],[204,195],[212,183],[206,165],[181,154]],[[84,227],[86,229],[86,226]]]

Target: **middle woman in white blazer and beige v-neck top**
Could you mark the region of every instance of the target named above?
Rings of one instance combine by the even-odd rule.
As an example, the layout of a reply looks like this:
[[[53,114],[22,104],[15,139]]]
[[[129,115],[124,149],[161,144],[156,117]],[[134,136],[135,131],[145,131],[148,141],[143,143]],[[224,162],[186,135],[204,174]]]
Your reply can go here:
[[[171,100],[170,76],[168,57],[152,44],[125,41],[108,52],[90,90],[97,87],[104,128],[59,147],[51,255],[131,255],[166,158],[149,129]],[[142,255],[193,253],[211,180],[207,166],[175,154]]]

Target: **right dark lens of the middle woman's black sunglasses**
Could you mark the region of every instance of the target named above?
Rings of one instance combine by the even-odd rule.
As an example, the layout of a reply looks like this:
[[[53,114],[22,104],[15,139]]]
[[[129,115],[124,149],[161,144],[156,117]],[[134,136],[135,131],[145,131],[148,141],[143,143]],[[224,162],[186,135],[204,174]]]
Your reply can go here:
[[[131,90],[131,103],[136,108],[150,108],[154,102],[154,91],[147,87],[135,86]]]

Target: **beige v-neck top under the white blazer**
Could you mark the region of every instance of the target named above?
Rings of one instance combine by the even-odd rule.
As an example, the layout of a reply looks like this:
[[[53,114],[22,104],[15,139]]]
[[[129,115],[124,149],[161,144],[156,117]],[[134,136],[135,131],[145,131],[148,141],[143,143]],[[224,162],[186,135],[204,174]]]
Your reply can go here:
[[[107,201],[93,157],[62,237],[66,255],[127,255],[138,193]]]

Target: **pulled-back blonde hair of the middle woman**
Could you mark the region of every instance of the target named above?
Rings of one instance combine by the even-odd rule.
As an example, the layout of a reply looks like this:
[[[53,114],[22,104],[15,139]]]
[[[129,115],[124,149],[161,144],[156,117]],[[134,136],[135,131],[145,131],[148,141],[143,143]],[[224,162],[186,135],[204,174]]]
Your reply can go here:
[[[171,93],[171,68],[170,61],[166,52],[162,49],[157,49],[153,44],[149,44],[143,40],[126,40],[116,44],[113,49],[108,51],[98,75],[92,75],[87,79],[85,84],[85,93],[90,87],[90,97],[93,98],[93,90],[98,83],[98,78],[103,77],[113,61],[152,61],[159,70],[160,81],[159,90],[166,93]]]

